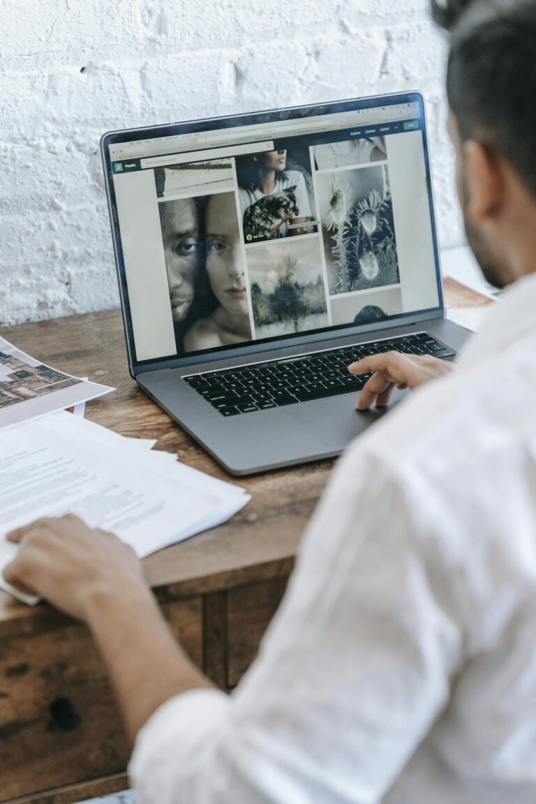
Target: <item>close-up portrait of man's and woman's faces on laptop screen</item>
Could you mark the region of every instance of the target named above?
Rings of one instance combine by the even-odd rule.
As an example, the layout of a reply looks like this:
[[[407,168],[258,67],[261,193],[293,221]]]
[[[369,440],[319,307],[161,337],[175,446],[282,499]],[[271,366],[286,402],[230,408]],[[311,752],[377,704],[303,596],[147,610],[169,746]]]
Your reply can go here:
[[[164,201],[158,210],[178,354],[251,340],[235,194]]]

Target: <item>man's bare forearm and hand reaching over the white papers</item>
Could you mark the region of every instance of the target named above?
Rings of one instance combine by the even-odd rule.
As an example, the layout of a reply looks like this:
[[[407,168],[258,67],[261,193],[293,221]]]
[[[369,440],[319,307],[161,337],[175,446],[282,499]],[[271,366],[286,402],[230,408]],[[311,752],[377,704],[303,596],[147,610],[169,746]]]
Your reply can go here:
[[[133,550],[76,516],[39,519],[8,536],[20,544],[4,576],[86,623],[108,667],[130,739],[164,701],[211,687],[175,642]]]

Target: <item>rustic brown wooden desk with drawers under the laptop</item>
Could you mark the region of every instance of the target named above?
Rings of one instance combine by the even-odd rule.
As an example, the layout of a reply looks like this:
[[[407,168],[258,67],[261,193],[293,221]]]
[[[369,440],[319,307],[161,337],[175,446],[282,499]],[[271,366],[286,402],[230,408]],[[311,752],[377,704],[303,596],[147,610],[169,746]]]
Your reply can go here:
[[[156,438],[156,449],[231,479],[137,388],[117,310],[0,332],[43,363],[117,388],[88,403],[88,419]],[[252,502],[229,523],[144,562],[174,633],[224,689],[255,657],[332,463],[241,479]],[[128,757],[88,631],[47,605],[28,608],[0,592],[0,802],[70,804],[122,790]]]

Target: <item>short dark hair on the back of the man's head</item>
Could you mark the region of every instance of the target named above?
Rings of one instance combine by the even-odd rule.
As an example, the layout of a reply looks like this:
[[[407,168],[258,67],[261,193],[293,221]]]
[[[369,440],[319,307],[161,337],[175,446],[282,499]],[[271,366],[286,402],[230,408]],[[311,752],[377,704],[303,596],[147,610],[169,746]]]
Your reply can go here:
[[[447,92],[462,140],[501,154],[536,195],[536,0],[432,0],[451,33]]]

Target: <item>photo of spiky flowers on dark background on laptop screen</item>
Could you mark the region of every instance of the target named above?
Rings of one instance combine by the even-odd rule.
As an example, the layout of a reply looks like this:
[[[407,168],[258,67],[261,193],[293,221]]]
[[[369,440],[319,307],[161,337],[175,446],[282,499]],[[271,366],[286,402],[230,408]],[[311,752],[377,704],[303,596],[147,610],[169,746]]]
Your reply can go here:
[[[329,295],[399,284],[387,165],[316,176]]]

